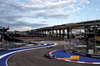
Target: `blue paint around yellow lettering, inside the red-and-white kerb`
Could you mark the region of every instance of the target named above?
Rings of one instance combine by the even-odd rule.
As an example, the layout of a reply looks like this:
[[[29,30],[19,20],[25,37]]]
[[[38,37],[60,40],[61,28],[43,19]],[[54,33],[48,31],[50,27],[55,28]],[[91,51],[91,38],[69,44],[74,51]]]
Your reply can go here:
[[[65,57],[75,56],[77,54],[74,54],[74,53],[71,53],[71,52],[66,53],[66,52],[64,52],[64,49],[61,49],[61,50],[57,50],[57,51],[53,52],[52,55],[57,57],[57,58],[65,58]],[[86,56],[82,56],[82,55],[79,55],[79,60],[73,60],[73,61],[99,62],[100,63],[99,58],[86,57]]]

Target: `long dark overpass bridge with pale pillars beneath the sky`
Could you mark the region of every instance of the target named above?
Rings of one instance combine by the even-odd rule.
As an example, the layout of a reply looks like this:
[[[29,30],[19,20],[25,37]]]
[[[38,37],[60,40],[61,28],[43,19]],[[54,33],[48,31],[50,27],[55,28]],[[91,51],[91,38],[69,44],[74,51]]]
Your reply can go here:
[[[94,30],[94,27],[96,28],[96,30],[100,29],[100,20],[56,25],[51,27],[38,28],[26,32],[36,37],[40,37],[40,36],[64,37],[66,35],[69,36],[69,34],[72,33],[73,29],[82,29],[85,32],[90,33],[90,31]]]

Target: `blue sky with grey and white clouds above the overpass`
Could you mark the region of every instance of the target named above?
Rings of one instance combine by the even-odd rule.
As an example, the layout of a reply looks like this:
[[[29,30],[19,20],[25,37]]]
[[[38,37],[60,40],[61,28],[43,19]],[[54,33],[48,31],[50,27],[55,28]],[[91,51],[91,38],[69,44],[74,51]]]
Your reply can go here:
[[[0,0],[0,26],[10,31],[100,19],[100,0]]]

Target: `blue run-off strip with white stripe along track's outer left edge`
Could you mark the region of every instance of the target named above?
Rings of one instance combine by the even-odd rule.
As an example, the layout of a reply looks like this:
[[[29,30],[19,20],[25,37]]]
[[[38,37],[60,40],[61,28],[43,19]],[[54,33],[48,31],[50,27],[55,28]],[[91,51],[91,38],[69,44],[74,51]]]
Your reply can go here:
[[[8,66],[7,60],[10,58],[12,55],[17,54],[22,51],[27,51],[27,50],[33,50],[33,49],[40,49],[40,48],[45,48],[45,47],[51,47],[57,45],[56,43],[38,43],[38,45],[34,45],[31,47],[22,47],[22,48],[14,48],[14,49],[8,49],[5,51],[0,52],[0,66]]]

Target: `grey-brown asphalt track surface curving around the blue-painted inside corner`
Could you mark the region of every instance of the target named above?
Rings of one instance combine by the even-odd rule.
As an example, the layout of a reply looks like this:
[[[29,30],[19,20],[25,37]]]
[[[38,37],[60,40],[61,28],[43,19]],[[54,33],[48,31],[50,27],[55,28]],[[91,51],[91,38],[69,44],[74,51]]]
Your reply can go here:
[[[65,62],[57,59],[48,59],[44,54],[52,50],[62,49],[63,45],[55,46],[51,49],[42,48],[19,52],[11,56],[7,63],[8,66],[100,66],[93,64],[79,64],[72,62]]]

